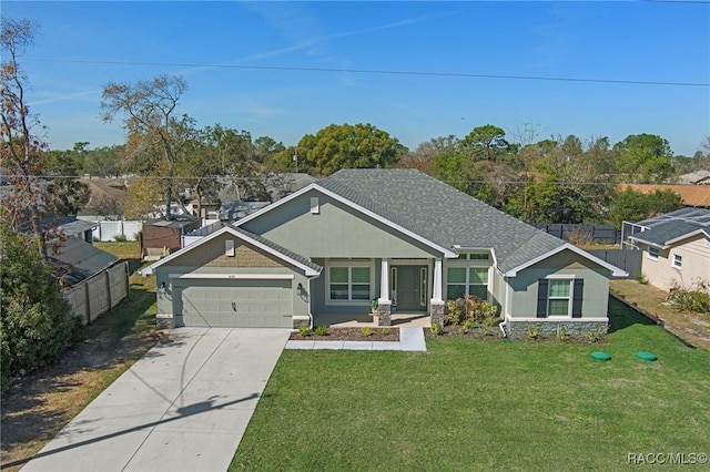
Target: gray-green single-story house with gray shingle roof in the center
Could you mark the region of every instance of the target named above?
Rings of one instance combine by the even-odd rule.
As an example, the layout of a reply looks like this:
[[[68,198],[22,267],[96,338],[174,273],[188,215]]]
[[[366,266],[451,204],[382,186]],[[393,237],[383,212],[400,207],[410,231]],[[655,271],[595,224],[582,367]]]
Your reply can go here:
[[[505,328],[605,330],[621,269],[414,170],[344,170],[143,269],[174,326],[291,328],[356,317],[377,299],[443,322],[473,294]]]

